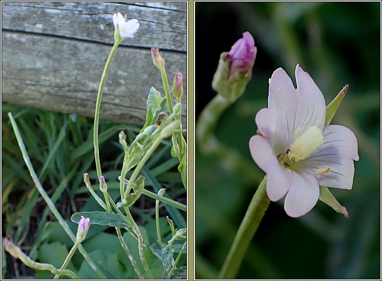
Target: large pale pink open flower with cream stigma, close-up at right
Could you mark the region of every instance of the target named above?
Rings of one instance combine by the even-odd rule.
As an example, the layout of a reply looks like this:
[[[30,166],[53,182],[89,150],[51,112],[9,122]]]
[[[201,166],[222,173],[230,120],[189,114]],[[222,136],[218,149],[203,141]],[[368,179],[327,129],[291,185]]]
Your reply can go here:
[[[359,159],[354,133],[341,125],[325,126],[323,94],[299,65],[297,89],[284,69],[273,73],[268,108],[256,115],[258,134],[249,140],[253,160],[267,173],[272,201],[285,196],[284,209],[300,217],[319,199],[320,185],[351,189]]]

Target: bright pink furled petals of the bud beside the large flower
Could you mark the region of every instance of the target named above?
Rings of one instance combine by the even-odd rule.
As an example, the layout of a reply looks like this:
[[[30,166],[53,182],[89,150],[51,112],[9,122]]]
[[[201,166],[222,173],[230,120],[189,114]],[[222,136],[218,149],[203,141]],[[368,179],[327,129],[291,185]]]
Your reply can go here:
[[[228,59],[231,62],[229,76],[251,71],[257,51],[258,48],[254,46],[252,35],[248,31],[244,32],[243,38],[237,40],[228,52]]]

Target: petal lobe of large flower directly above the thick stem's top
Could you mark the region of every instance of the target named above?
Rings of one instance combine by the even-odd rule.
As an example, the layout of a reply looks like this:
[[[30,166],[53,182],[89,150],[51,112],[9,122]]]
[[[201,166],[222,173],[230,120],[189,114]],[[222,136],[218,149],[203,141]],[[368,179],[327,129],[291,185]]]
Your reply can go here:
[[[293,182],[293,171],[278,165],[272,165],[268,171],[267,195],[272,201],[278,201],[288,192]]]

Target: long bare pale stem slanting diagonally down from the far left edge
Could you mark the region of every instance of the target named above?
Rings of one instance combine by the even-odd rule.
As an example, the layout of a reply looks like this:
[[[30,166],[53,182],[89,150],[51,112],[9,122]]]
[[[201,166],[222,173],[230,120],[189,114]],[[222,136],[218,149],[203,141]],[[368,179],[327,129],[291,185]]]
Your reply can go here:
[[[17,142],[19,144],[21,154],[23,155],[25,164],[28,167],[29,173],[32,177],[32,180],[34,184],[36,185],[36,188],[38,192],[40,192],[42,198],[44,198],[46,204],[49,206],[50,210],[52,211],[54,217],[57,219],[58,223],[61,225],[61,227],[65,230],[65,232],[68,234],[68,236],[72,239],[73,243],[76,243],[77,238],[76,235],[72,232],[72,230],[69,228],[68,224],[63,220],[61,214],[58,212],[56,206],[53,204],[52,200],[49,198],[48,194],[45,192],[44,188],[42,187],[40,181],[38,180],[37,174],[33,169],[32,163],[29,159],[29,155],[27,153],[27,150],[25,148],[23,139],[21,137],[19,127],[16,124],[15,119],[13,118],[13,115],[11,112],[8,113],[8,116],[11,120],[11,124],[13,127],[13,130],[15,132]],[[78,247],[80,253],[85,258],[85,260],[89,263],[89,265],[92,267],[92,269],[98,274],[99,277],[106,279],[105,274],[102,273],[102,271],[98,268],[98,266],[94,263],[88,252],[85,250],[85,248],[80,244]]]

